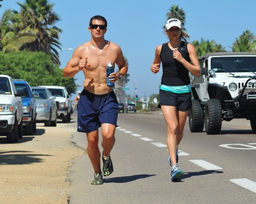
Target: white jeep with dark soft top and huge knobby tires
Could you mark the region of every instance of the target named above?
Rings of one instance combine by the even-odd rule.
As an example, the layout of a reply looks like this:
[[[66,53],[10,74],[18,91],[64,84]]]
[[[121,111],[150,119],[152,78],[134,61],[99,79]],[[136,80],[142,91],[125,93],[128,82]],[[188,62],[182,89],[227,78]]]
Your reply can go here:
[[[191,132],[219,134],[222,120],[247,119],[256,132],[256,54],[214,52],[199,57],[193,76],[194,100],[188,113]]]

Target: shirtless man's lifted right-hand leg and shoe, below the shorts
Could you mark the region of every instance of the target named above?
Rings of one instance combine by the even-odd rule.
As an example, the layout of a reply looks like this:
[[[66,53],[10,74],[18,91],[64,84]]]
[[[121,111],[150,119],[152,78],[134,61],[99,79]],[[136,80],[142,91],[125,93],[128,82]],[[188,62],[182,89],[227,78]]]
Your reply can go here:
[[[110,158],[110,151],[115,144],[115,125],[108,123],[101,124],[101,134],[101,146],[103,147],[103,176],[109,176],[112,172],[114,172],[114,167]]]

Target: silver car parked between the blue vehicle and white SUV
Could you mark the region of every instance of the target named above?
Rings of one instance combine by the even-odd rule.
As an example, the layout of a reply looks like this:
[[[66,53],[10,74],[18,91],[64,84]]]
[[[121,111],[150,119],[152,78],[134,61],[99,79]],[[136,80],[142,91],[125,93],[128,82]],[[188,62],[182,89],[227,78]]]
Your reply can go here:
[[[31,87],[36,98],[36,121],[44,122],[45,126],[57,126],[56,96],[48,88]]]

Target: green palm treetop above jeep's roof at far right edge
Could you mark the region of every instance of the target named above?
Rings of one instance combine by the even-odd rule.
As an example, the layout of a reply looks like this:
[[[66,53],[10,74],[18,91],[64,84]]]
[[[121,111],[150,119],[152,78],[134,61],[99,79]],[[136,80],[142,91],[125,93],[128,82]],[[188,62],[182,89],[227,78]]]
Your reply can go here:
[[[252,52],[255,51],[256,40],[251,31],[246,29],[238,39],[233,43],[234,52]]]

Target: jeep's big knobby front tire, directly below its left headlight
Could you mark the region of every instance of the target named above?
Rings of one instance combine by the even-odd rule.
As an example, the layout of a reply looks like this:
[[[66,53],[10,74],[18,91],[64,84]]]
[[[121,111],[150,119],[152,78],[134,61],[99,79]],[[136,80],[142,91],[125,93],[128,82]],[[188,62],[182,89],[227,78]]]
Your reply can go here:
[[[205,105],[205,131],[208,135],[219,134],[222,129],[222,105],[218,99],[209,99]]]

